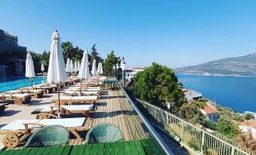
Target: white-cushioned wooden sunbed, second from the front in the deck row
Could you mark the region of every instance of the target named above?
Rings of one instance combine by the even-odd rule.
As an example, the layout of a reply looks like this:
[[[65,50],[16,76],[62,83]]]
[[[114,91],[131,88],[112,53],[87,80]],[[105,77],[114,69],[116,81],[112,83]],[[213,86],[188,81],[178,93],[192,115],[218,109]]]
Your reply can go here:
[[[85,117],[90,117],[91,111],[96,110],[94,105],[61,105],[60,114],[84,114]],[[47,114],[57,114],[57,105],[44,105],[36,108],[31,114],[39,114],[38,117],[47,117]],[[46,113],[46,114],[45,114]]]

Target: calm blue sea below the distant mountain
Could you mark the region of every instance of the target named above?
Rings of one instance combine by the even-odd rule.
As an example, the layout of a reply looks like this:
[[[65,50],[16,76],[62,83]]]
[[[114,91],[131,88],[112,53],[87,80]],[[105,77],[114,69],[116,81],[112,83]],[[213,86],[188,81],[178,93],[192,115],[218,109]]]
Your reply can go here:
[[[177,74],[185,88],[238,112],[256,112],[256,78]]]

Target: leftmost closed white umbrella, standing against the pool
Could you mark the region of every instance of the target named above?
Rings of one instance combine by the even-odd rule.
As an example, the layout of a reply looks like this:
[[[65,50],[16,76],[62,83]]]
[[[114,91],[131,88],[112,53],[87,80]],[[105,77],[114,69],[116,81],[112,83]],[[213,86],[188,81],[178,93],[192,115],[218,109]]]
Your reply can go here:
[[[35,77],[34,63],[30,53],[26,54],[26,78],[31,80],[31,87],[33,87],[33,77]]]

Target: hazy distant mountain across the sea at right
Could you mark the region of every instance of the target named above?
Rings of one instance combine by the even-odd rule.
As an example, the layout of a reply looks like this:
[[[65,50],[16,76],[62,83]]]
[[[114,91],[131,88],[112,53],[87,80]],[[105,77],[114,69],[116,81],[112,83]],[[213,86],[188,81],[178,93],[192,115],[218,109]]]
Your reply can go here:
[[[178,73],[256,76],[256,53],[175,69]]]

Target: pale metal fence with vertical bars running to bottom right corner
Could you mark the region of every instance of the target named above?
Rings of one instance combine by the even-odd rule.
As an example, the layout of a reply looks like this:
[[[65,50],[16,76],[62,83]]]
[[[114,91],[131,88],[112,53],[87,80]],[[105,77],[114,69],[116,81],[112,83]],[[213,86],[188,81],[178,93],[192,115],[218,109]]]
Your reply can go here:
[[[205,155],[252,155],[248,150],[242,150],[230,141],[201,129],[196,124],[189,123],[179,117],[174,116],[168,111],[155,105],[137,99],[143,111],[150,114],[162,128],[170,135],[183,144],[184,147],[193,149],[198,154]]]

